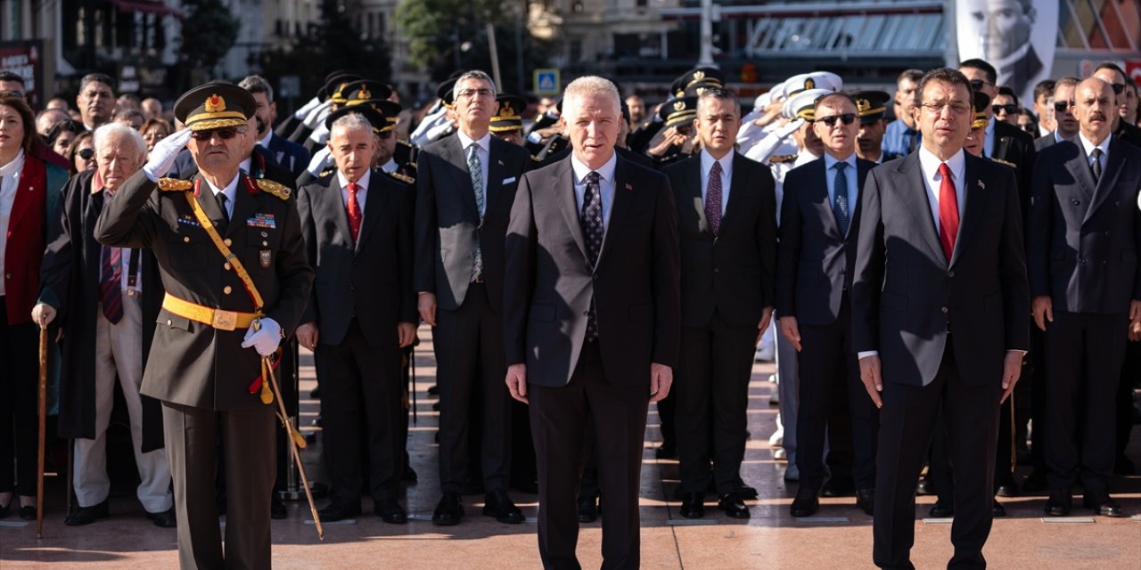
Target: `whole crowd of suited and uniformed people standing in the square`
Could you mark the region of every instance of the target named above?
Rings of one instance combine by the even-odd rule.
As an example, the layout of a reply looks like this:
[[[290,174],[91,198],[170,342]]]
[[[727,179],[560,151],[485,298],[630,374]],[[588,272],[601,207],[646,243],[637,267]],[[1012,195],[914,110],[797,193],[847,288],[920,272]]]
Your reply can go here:
[[[577,568],[578,524],[599,516],[607,564],[639,565],[649,404],[681,516],[712,494],[748,519],[747,385],[766,351],[791,514],[853,497],[877,565],[911,568],[916,492],[954,516],[964,568],[985,565],[998,497],[1047,492],[1065,516],[1079,483],[1085,508],[1123,516],[1138,85],[1106,63],[1023,107],[996,75],[980,59],[908,70],[888,93],[812,72],[743,103],[699,67],[648,105],[604,78],[556,100],[464,71],[405,108],[339,71],[278,117],[257,75],[164,112],[90,74],[75,109],[37,112],[0,74],[0,518],[37,516],[44,328],[74,440],[68,526],[108,515],[118,383],[137,497],[177,527],[183,568],[268,568],[298,406],[270,376],[293,377],[298,347],[319,384],[321,519],[358,516],[366,496],[405,523],[421,325],[432,523],[461,523],[466,495],[520,523],[511,491],[537,494],[545,568]]]

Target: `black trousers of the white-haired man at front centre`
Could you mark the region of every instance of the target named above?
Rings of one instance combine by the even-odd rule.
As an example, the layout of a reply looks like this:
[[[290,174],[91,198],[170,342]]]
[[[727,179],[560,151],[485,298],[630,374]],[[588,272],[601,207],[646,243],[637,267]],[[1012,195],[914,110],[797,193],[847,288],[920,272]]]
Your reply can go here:
[[[647,368],[647,381],[649,370]],[[641,560],[638,487],[649,383],[616,385],[602,369],[597,342],[583,345],[570,382],[528,384],[531,432],[539,458],[539,554],[548,570],[578,570],[578,479],[586,423],[598,453],[602,568],[637,569]]]

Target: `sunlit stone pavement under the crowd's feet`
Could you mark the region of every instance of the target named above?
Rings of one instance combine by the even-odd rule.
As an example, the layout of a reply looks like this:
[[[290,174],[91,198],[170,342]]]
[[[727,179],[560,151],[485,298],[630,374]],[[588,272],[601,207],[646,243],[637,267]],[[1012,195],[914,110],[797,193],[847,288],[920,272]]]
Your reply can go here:
[[[434,527],[429,520],[439,498],[436,449],[432,435],[437,415],[435,397],[427,388],[435,380],[430,332],[416,349],[418,423],[411,429],[412,465],[420,474],[407,488],[407,508],[413,520],[405,526],[383,523],[372,515],[365,500],[364,515],[354,523],[326,523],[318,542],[304,499],[289,503],[285,520],[273,522],[273,564],[276,569],[531,569],[540,568],[533,519],[524,524],[501,524],[479,513],[482,496],[464,497],[467,516],[456,527]],[[308,398],[315,384],[313,358],[302,351],[301,394]],[[824,498],[820,512],[810,519],[788,515],[795,483],[783,479],[785,464],[772,459],[768,435],[775,427],[777,407],[769,404],[775,384],[767,381],[774,366],[758,363],[750,384],[748,430],[752,438],[742,469],[744,480],[760,490],[751,502],[753,518],[737,521],[719,516],[715,498],[706,505],[706,519],[695,523],[678,515],[672,498],[678,465],[657,461],[661,442],[657,415],[650,409],[641,479],[642,568],[685,570],[734,569],[861,569],[873,568],[872,519],[852,498]],[[315,400],[301,401],[302,431],[317,414]],[[319,438],[318,438],[319,440]],[[309,477],[324,480],[319,442],[304,451]],[[1141,429],[1135,427],[1130,449],[1141,464]],[[1020,467],[1025,474],[1025,467]],[[22,526],[14,515],[0,521],[0,570],[66,569],[167,569],[177,568],[175,532],[144,519],[131,492],[112,497],[108,519],[88,527],[63,524],[65,490],[60,477],[48,478],[43,539],[35,539],[34,523]],[[1141,477],[1117,478],[1115,496],[1130,514],[1141,513]],[[534,495],[511,491],[528,516],[537,505]],[[925,514],[933,497],[919,497]],[[997,569],[1141,569],[1141,520],[1090,518],[1076,496],[1074,518],[1043,521],[1043,496],[1003,499],[1009,516],[995,520],[985,555]],[[324,506],[318,500],[318,508]],[[680,519],[680,520],[679,520]],[[225,520],[225,519],[222,519]],[[1062,522],[1066,521],[1066,522]],[[950,524],[919,522],[913,560],[917,568],[945,568],[952,549]],[[584,568],[598,568],[601,559],[600,523],[584,524],[578,556]]]

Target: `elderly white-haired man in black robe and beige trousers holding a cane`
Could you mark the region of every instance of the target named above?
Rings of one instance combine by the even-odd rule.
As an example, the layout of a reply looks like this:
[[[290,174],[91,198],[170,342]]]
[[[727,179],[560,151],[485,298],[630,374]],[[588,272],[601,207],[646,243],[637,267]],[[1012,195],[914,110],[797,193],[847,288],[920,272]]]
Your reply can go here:
[[[115,377],[130,416],[137,496],[147,518],[173,527],[170,467],[162,449],[157,400],[140,396],[163,287],[154,256],[143,250],[99,245],[95,222],[119,187],[141,165],[143,137],[130,127],[107,123],[95,131],[96,168],[64,187],[58,222],[49,230],[40,301],[32,318],[41,325],[57,315],[67,332],[59,375],[59,423],[75,438],[72,483],[79,508],[66,521],[89,524],[107,516],[106,432],[114,405]]]

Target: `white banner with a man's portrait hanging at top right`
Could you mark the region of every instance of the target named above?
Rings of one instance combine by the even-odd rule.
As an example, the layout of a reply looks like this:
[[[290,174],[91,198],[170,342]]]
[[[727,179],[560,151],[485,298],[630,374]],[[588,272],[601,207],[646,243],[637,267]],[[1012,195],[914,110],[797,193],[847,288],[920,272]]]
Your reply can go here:
[[[1051,76],[1058,0],[955,0],[960,60],[980,58],[1029,107],[1034,85]]]

